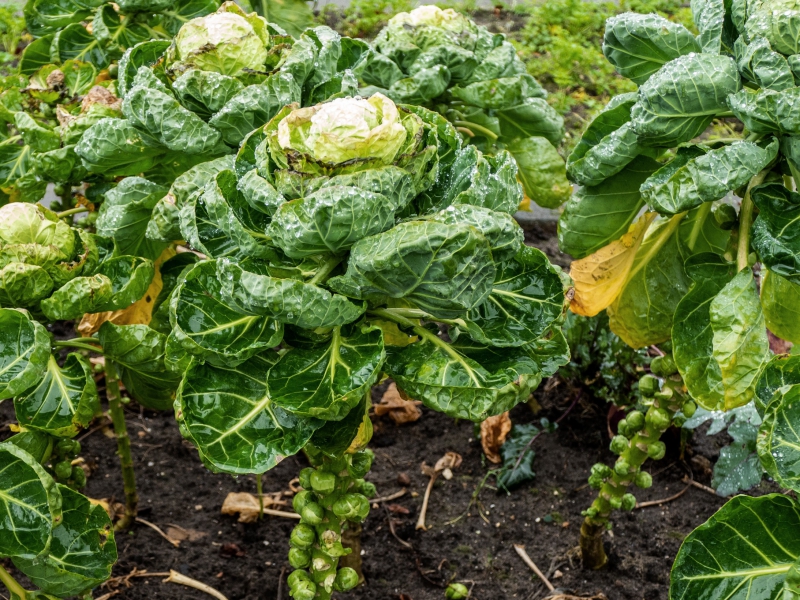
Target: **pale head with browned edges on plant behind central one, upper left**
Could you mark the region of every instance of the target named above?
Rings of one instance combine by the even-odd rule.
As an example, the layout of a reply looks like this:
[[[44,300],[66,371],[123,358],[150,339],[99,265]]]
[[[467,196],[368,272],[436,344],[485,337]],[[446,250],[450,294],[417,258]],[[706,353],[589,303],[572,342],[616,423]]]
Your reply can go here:
[[[170,58],[182,69],[236,76],[244,69],[263,70],[268,46],[266,21],[226,2],[217,12],[192,19],[181,27]]]

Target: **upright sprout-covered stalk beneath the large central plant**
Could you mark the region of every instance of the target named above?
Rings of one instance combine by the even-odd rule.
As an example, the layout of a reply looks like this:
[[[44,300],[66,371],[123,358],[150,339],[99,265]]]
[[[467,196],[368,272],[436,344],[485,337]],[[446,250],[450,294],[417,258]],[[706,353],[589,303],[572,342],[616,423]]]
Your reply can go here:
[[[316,456],[309,452],[312,462]],[[289,594],[296,600],[329,600],[334,591],[346,592],[359,583],[350,567],[338,568],[339,560],[352,552],[342,544],[348,521],[360,523],[369,513],[371,484],[362,477],[372,464],[372,453],[362,450],[337,458],[320,457],[317,467],[300,472],[303,491],[293,501],[300,524],[292,531]]]

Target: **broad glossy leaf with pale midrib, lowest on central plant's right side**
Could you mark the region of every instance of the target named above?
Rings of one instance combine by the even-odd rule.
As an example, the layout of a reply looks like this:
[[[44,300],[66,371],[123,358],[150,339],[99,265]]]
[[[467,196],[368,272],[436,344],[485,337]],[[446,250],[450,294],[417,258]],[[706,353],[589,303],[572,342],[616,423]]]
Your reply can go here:
[[[385,370],[408,397],[450,417],[480,422],[524,402],[541,382],[540,368],[525,349],[504,350],[479,351],[473,358],[429,332],[389,352]]]

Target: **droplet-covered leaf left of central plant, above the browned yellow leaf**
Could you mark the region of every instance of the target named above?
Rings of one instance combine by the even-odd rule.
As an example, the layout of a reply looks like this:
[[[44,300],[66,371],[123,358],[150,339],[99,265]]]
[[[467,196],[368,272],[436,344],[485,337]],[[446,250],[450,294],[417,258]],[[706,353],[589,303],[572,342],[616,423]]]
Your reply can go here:
[[[118,254],[157,259],[166,248],[145,237],[153,207],[167,189],[141,177],[127,177],[106,192],[97,217],[97,233],[114,239]]]

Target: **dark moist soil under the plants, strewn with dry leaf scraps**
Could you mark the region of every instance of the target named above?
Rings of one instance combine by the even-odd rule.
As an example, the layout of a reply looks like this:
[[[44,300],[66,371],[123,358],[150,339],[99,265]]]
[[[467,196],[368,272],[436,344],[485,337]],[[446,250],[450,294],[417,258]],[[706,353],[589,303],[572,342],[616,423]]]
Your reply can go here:
[[[567,265],[567,258],[554,252],[551,225],[528,229],[528,243],[548,251],[554,262]],[[512,420],[524,423],[561,415],[574,398],[574,391],[563,382],[553,384],[556,382],[545,382],[535,394],[542,407],[539,414],[534,415],[522,404],[511,412]],[[242,524],[221,515],[227,494],[254,493],[254,479],[207,471],[194,448],[181,438],[172,414],[144,411],[135,403],[128,405],[127,412],[140,516],[164,529],[175,524],[201,532],[203,537],[174,548],[150,528],[137,524],[130,533],[117,536],[119,562],[114,575],[124,576],[134,569],[175,569],[215,587],[229,600],[288,600],[285,576],[291,568],[286,553],[295,522],[266,517],[255,524]],[[368,479],[377,486],[379,496],[400,490],[398,479],[404,476],[410,479],[410,485],[406,495],[387,503],[393,512],[385,505],[373,508],[364,524],[362,554],[367,585],[335,597],[441,600],[446,583],[457,580],[474,584],[472,598],[478,600],[541,598],[546,591],[543,584],[513,548],[513,544],[524,544],[534,562],[564,590],[586,596],[602,592],[609,600],[666,599],[670,566],[681,540],[724,500],[691,487],[661,507],[621,513],[607,536],[608,568],[600,572],[582,570],[575,552],[580,513],[594,494],[586,478],[592,464],[610,464],[614,458],[608,451],[607,412],[601,402],[582,400],[555,433],[540,436],[534,446],[536,479],[511,495],[498,493],[492,487],[493,477],[485,480],[493,465],[486,462],[472,423],[454,422],[429,410],[423,411],[419,421],[404,426],[396,426],[387,417],[376,418],[370,444],[375,463]],[[7,424],[13,421],[13,405],[8,401],[0,405],[0,438],[10,435]],[[654,484],[639,492],[640,501],[666,498],[685,487],[678,438],[674,434],[667,440],[666,458],[647,465]],[[120,500],[122,480],[110,430],[101,428],[85,434],[82,443],[83,456],[94,468],[84,492],[92,498]],[[713,463],[718,448],[726,443],[725,434],[710,438],[696,433],[686,456],[704,457]],[[450,481],[437,480],[428,510],[430,529],[416,531],[427,484],[420,466],[423,462],[435,463],[447,451],[461,454],[463,464]],[[703,458],[694,458],[690,464],[704,462]],[[288,490],[289,482],[304,466],[302,455],[287,458],[264,476],[264,491]],[[708,483],[707,474],[695,473],[695,477]],[[470,504],[473,497],[479,505]],[[396,537],[390,531],[390,518],[395,520]],[[119,590],[114,596],[117,600],[209,598],[189,588],[162,583],[161,578],[132,579],[131,587]],[[98,590],[95,597],[108,591]]]

